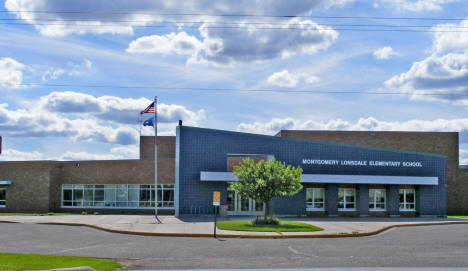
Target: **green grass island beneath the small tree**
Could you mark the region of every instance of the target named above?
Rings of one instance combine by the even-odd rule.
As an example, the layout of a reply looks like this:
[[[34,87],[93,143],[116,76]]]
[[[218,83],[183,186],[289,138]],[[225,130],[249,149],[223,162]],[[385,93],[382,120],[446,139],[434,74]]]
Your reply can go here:
[[[317,226],[295,221],[280,221],[279,225],[252,225],[250,220],[233,220],[233,221],[218,221],[216,223],[218,229],[228,231],[270,231],[270,232],[286,232],[286,231],[323,231]]]

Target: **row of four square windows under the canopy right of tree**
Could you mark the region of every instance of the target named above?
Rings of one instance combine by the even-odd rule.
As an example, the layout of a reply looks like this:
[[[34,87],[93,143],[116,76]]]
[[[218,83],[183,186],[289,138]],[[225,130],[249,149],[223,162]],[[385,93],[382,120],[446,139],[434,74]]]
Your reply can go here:
[[[400,189],[400,211],[415,211],[415,190]],[[369,211],[386,211],[386,190],[369,189]],[[325,188],[306,188],[307,211],[325,210]],[[356,210],[356,189],[338,188],[338,210]]]

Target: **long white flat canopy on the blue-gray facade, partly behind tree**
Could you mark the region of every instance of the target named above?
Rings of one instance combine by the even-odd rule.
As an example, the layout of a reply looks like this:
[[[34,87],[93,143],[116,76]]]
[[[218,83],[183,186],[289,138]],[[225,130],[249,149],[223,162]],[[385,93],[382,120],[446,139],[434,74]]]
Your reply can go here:
[[[232,172],[201,171],[200,181],[237,182],[237,178]],[[302,183],[438,185],[439,177],[302,174],[301,181]]]

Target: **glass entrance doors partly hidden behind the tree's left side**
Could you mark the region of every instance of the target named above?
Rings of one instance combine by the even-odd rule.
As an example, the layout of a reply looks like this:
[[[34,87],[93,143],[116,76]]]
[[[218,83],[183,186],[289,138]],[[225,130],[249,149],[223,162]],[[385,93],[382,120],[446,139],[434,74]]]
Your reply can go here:
[[[264,208],[263,203],[256,203],[253,199],[242,198],[232,190],[227,191],[228,215],[263,215]]]

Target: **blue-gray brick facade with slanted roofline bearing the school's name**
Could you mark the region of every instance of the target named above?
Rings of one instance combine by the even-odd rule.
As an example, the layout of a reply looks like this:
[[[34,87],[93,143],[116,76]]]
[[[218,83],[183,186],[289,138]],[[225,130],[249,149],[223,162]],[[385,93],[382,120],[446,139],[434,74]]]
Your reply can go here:
[[[359,147],[277,136],[177,127],[176,190],[178,190],[179,214],[191,214],[193,210],[209,212],[212,192],[221,191],[222,204],[226,203],[226,182],[201,182],[201,171],[226,172],[227,154],[271,154],[286,164],[301,166],[305,174],[336,175],[384,175],[438,177],[438,185],[418,185],[416,212],[419,215],[446,214],[446,158],[442,155],[396,151],[390,149]],[[422,167],[350,167],[330,165],[304,165],[302,159],[338,159],[366,161],[421,161]],[[338,214],[338,185],[328,184],[326,212]],[[367,191],[367,193],[366,193]],[[368,213],[368,187],[356,186],[357,209]],[[399,186],[387,185],[387,211],[399,214]],[[288,215],[306,214],[305,191],[273,203],[273,213]]]

